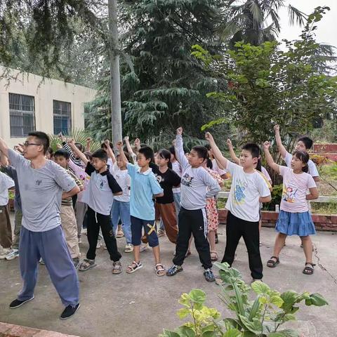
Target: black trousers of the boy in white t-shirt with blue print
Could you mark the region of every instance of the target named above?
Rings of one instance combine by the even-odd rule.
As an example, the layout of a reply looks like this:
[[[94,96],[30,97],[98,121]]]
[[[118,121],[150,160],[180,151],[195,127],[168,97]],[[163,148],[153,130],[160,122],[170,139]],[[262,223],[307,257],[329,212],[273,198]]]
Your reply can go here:
[[[226,225],[226,249],[222,263],[227,262],[230,266],[234,261],[235,251],[241,237],[248,251],[249,268],[253,279],[262,279],[263,266],[260,256],[260,232],[258,221],[256,223],[242,220],[233,216],[230,211],[227,214]]]

